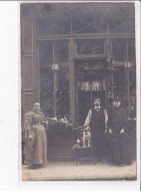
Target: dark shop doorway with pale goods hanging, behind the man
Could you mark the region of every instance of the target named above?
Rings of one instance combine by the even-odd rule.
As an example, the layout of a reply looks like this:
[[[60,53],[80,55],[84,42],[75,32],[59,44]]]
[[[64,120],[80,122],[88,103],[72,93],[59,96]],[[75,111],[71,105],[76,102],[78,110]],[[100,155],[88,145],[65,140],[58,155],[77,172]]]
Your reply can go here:
[[[93,99],[99,97],[105,108],[106,61],[105,59],[76,60],[76,120],[77,126],[84,124]]]

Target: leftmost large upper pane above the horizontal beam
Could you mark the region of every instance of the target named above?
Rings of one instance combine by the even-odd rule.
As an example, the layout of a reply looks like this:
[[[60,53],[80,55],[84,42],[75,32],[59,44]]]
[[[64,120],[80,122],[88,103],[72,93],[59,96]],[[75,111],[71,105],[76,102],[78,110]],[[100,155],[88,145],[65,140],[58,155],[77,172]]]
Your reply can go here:
[[[49,10],[43,9],[39,14],[39,34],[69,34],[71,16],[64,4],[50,4]]]

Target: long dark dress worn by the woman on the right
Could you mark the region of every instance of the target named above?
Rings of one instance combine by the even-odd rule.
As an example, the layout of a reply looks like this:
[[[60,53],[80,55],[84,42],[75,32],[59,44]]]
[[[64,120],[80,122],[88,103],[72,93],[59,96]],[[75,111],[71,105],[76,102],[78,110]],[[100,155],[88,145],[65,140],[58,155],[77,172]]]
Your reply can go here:
[[[112,161],[117,165],[129,162],[127,145],[127,111],[124,108],[113,108],[109,126],[112,129]],[[125,132],[120,134],[121,129]]]

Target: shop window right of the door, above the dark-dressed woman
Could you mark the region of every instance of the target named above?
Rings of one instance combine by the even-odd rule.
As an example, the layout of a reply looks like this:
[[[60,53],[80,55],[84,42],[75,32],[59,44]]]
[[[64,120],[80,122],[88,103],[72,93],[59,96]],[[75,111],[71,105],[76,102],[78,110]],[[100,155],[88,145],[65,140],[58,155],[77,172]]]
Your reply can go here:
[[[118,41],[121,46],[119,46]],[[112,40],[112,50],[114,95],[124,97],[123,105],[128,106],[130,117],[132,106],[135,106],[133,99],[136,98],[135,40]]]

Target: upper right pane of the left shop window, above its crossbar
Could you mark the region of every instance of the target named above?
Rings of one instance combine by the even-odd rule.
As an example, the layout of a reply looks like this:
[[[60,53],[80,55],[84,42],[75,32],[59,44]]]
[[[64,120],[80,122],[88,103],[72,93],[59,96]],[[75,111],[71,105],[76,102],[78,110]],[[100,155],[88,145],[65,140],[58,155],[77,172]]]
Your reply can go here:
[[[57,40],[54,42],[55,62],[68,62],[68,40]]]

